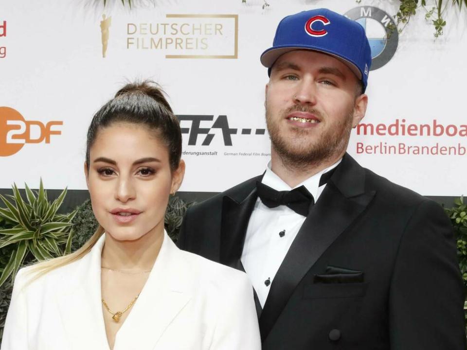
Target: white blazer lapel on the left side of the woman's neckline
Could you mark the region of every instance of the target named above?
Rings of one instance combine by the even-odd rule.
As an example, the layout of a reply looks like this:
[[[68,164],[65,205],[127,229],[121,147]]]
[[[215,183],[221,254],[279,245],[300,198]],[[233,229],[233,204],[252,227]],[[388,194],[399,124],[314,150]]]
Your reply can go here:
[[[101,305],[103,235],[57,286],[57,304],[70,349],[108,349]],[[71,266],[70,266],[71,267]]]

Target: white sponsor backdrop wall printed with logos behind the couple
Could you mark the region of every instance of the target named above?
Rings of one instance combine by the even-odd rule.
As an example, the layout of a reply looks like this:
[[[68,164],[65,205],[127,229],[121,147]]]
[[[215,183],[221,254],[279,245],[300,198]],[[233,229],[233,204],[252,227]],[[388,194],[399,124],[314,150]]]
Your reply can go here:
[[[268,75],[259,56],[279,20],[317,7],[360,11],[367,35],[384,47],[389,40],[375,13],[392,16],[399,4],[268,0],[263,9],[263,0],[155,2],[133,0],[129,10],[111,0],[105,8],[103,0],[1,1],[0,188],[37,187],[41,176],[49,189],[86,189],[92,115],[137,78],[160,83],[180,116],[187,163],[181,191],[220,192],[260,174],[270,145],[263,133]],[[105,58],[103,14],[111,20]],[[467,14],[451,8],[445,17],[448,27],[436,40],[423,14],[412,18],[394,56],[370,72],[369,108],[349,144],[363,166],[431,196],[467,192]]]

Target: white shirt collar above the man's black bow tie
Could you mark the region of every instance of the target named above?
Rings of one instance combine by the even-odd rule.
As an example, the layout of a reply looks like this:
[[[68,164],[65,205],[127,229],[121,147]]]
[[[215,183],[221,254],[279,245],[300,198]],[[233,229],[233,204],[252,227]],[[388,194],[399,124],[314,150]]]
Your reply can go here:
[[[323,169],[319,173],[308,177],[305,181],[299,183],[297,186],[294,188],[300,187],[300,186],[305,186],[305,188],[308,190],[313,195],[313,198],[315,199],[315,202],[318,200],[319,194],[321,194],[322,191],[319,191],[320,189],[322,190],[325,186],[320,187],[320,179],[321,175],[324,173],[328,172],[331,169],[334,169],[339,165],[341,162],[342,158],[339,159],[337,162],[332,164],[330,167],[327,167],[326,169]],[[268,166],[266,167],[266,173],[263,176],[263,179],[261,182],[271,188],[273,188],[276,191],[290,191],[292,188],[288,186],[284,180],[282,180],[278,175],[276,175],[272,170],[271,170],[271,162],[269,161]]]

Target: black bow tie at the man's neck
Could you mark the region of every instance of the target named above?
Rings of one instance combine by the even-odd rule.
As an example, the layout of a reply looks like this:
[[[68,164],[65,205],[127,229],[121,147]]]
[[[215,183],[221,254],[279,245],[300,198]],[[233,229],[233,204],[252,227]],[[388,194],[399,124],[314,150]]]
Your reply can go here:
[[[329,180],[334,173],[334,169],[321,176],[320,186],[323,186]],[[285,205],[303,216],[308,216],[310,207],[315,204],[313,195],[308,192],[305,186],[297,187],[291,191],[276,191],[262,182],[256,181],[256,191],[261,202],[268,208]]]

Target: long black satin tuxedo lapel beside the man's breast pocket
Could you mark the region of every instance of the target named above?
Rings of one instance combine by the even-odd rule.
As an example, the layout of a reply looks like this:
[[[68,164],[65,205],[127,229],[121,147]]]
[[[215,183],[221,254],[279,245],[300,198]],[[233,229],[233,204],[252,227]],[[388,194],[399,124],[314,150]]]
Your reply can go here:
[[[365,192],[364,182],[363,168],[346,154],[310,210],[271,283],[260,318],[262,341],[308,270],[372,200],[375,192]]]

